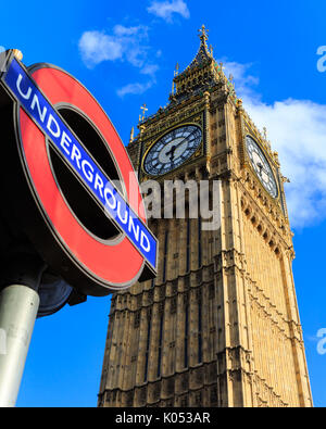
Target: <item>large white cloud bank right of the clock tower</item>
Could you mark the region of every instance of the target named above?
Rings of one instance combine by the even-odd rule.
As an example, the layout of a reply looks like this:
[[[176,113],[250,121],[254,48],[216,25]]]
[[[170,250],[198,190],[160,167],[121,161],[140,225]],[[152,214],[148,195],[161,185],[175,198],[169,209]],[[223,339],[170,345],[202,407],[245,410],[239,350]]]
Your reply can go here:
[[[255,125],[268,131],[279,154],[291,226],[302,228],[326,218],[326,104],[288,99],[267,104],[254,90],[250,65],[225,63],[235,76],[237,94]],[[239,83],[239,85],[237,85]]]

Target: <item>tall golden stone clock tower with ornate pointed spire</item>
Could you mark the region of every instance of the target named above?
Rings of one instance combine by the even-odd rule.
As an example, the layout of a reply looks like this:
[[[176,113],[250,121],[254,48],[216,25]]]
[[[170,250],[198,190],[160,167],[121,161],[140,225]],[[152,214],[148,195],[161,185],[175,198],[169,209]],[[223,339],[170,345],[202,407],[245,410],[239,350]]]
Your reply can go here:
[[[153,218],[155,281],[113,295],[99,406],[312,406],[285,178],[200,31],[128,151],[139,180],[221,181],[221,226]]]

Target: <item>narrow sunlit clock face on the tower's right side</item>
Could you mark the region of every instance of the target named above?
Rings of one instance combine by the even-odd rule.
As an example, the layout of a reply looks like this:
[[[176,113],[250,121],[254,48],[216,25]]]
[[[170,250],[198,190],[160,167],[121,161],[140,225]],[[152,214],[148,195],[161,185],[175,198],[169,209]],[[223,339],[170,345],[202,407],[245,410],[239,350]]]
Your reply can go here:
[[[250,162],[258,177],[260,178],[267,192],[273,198],[276,198],[278,193],[277,185],[268,161],[266,160],[266,156],[252,137],[246,137],[246,146]]]

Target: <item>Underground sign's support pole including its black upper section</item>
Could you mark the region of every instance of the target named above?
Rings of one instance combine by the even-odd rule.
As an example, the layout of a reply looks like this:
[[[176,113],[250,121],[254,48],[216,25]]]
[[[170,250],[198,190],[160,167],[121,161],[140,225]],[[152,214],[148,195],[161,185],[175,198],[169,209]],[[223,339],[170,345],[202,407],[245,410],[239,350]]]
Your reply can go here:
[[[12,243],[0,278],[0,407],[15,406],[47,265],[28,242]]]

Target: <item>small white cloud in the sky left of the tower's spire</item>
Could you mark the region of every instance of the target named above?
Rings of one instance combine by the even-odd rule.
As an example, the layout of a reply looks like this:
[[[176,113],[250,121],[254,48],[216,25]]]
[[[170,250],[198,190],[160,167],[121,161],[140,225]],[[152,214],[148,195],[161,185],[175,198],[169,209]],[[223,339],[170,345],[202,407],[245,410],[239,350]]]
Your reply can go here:
[[[88,67],[103,61],[127,61],[141,67],[147,60],[148,27],[115,25],[111,35],[105,31],[85,31],[79,39],[79,52]]]

